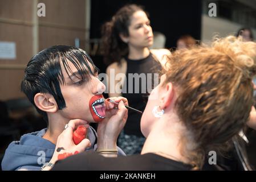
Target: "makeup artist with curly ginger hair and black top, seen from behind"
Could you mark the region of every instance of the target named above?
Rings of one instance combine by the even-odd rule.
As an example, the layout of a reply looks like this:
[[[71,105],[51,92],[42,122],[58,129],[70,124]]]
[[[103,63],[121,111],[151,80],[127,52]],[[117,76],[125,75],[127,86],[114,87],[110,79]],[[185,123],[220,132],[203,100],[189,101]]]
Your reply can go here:
[[[212,47],[174,52],[169,66],[141,117],[147,138],[141,155],[104,158],[88,151],[60,160],[53,169],[196,170],[207,151],[227,150],[224,146],[246,126],[253,106],[256,43],[228,36]],[[67,141],[71,135],[60,138]]]

